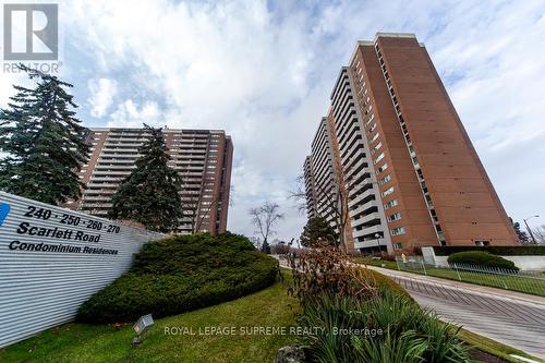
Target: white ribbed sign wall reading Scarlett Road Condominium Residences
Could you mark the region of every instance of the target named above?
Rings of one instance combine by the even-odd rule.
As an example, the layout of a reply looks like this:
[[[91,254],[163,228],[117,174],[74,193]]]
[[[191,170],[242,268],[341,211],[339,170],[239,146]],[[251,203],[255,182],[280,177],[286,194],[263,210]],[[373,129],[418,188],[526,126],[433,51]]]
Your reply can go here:
[[[73,319],[162,237],[0,192],[0,348]]]

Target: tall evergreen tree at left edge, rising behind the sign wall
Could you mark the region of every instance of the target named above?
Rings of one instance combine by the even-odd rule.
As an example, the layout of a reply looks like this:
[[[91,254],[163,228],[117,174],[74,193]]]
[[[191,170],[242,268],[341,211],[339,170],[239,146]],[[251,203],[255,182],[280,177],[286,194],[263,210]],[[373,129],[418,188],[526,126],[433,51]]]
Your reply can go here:
[[[13,86],[15,96],[0,110],[0,190],[53,205],[82,195],[76,172],[88,158],[86,129],[72,110],[71,84],[20,65],[35,88]]]

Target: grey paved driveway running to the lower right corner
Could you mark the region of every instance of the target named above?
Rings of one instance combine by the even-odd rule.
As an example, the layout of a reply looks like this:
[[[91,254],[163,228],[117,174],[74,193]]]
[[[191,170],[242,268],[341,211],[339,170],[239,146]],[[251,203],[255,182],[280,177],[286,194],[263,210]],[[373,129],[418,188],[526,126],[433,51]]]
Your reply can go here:
[[[444,319],[545,359],[545,299],[415,274],[370,267],[398,281]]]

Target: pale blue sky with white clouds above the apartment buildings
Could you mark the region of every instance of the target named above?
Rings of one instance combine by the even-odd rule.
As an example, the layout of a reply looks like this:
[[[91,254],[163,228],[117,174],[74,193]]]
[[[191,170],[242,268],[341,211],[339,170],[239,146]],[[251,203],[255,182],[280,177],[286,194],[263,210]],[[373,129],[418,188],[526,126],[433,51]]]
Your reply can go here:
[[[49,2],[49,1],[48,1]],[[287,199],[356,40],[415,33],[510,216],[545,225],[545,2],[61,1],[61,77],[87,126],[223,129],[233,138],[229,229]],[[19,75],[0,73],[0,105]]]

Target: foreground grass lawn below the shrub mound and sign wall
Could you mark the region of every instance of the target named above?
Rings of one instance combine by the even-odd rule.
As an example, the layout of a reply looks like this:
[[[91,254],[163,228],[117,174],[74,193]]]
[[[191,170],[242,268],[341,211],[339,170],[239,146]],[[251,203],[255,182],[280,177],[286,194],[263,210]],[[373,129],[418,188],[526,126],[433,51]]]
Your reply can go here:
[[[0,362],[272,362],[294,337],[241,335],[240,328],[294,326],[296,306],[277,282],[238,300],[158,319],[141,348],[131,347],[131,325],[71,323],[0,350]],[[166,327],[191,328],[195,335],[166,335]],[[237,335],[199,335],[206,327],[234,327]]]

